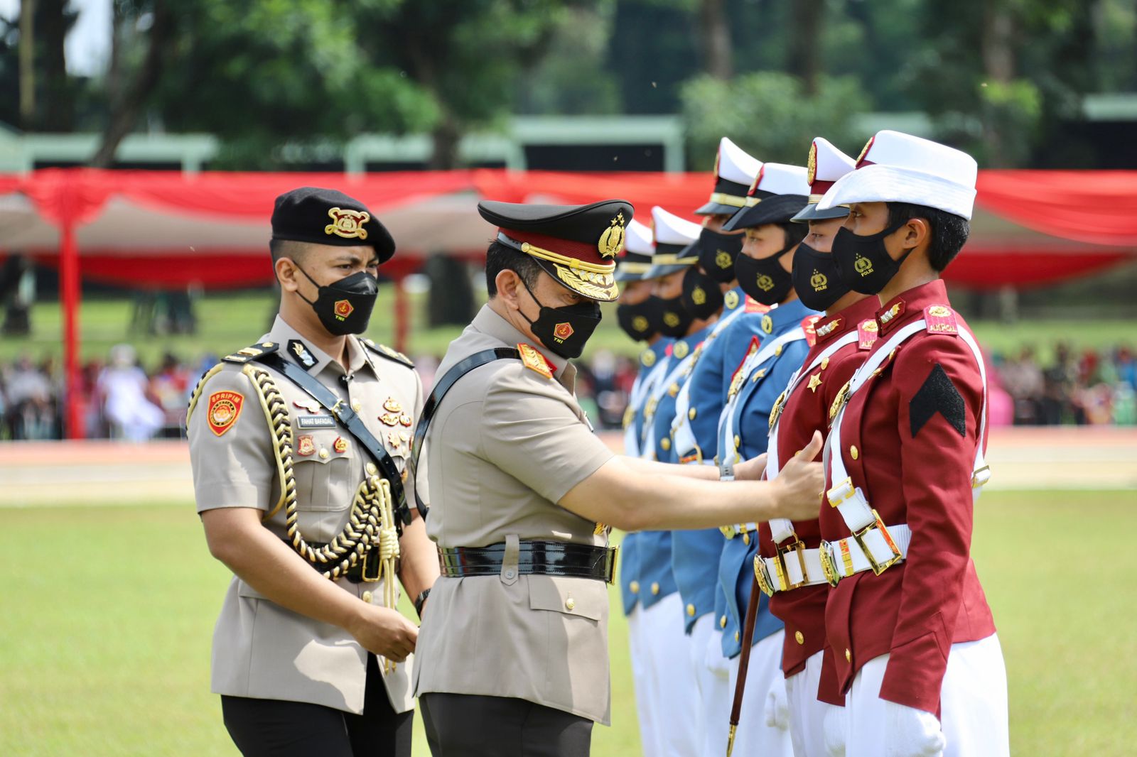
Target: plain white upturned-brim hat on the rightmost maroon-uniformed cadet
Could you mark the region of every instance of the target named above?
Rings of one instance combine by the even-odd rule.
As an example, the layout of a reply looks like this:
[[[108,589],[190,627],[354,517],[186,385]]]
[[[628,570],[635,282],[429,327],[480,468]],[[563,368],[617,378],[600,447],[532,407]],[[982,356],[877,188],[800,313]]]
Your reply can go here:
[[[979,166],[962,150],[911,134],[882,131],[818,202],[819,210],[853,202],[910,202],[971,219]]]

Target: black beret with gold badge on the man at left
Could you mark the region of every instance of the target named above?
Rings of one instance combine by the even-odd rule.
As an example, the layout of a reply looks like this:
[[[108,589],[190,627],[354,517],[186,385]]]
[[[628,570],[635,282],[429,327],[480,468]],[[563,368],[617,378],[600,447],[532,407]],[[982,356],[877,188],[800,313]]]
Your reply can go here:
[[[273,239],[332,247],[370,244],[380,263],[395,255],[390,232],[363,202],[318,186],[301,186],[276,198]]]

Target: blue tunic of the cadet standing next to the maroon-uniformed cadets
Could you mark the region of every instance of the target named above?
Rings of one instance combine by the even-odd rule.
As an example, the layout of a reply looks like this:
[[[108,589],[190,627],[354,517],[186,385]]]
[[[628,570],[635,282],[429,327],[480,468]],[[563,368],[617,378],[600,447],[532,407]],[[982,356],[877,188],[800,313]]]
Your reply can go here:
[[[746,359],[728,383],[727,404],[719,419],[721,460],[737,463],[766,451],[770,411],[810,351],[802,322],[816,315],[800,300],[792,300],[762,316],[762,336],[750,340]],[[728,332],[724,339],[733,340],[733,334]],[[757,524],[736,524],[724,529],[723,534],[727,533],[730,535],[719,560],[715,615],[723,632],[722,654],[732,658],[742,650],[742,621],[750,601],[754,556],[758,551]],[[754,599],[760,605],[753,643],[782,627],[782,622],[770,614],[766,596],[756,593]]]

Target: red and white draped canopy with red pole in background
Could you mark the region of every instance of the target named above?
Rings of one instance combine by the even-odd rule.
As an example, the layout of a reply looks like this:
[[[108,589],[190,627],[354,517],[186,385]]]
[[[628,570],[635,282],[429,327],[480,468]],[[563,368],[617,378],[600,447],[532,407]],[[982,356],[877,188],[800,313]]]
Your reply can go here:
[[[77,377],[80,259],[91,278],[135,286],[272,282],[265,247],[274,198],[334,186],[380,215],[399,244],[384,273],[401,277],[433,253],[479,256],[492,228],[478,197],[583,203],[606,198],[694,218],[708,174],[511,172],[182,174],[63,168],[0,175],[0,256],[58,264],[68,384]],[[973,289],[1037,286],[1134,259],[1137,172],[986,170],[964,253],[945,272]],[[68,429],[78,429],[68,408]]]

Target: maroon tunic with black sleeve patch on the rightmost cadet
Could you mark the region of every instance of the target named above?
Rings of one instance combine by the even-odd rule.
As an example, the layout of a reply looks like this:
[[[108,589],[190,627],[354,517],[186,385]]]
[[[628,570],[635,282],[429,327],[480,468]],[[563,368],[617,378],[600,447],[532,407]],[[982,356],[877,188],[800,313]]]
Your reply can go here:
[[[887,302],[877,314],[873,353],[933,305],[948,305],[938,280]],[[984,382],[958,334],[966,324],[951,317],[955,328],[914,334],[853,396],[841,449],[831,450],[881,521],[906,523],[912,539],[904,561],[830,590],[825,634],[833,654],[827,662],[838,690],[848,691],[862,665],[890,654],[880,697],[929,713],[939,712],[951,646],[995,633],[971,561],[972,469],[977,446],[986,444],[979,439]],[[825,490],[832,485],[827,481]],[[828,541],[849,535],[835,507],[822,507],[820,523]]]

